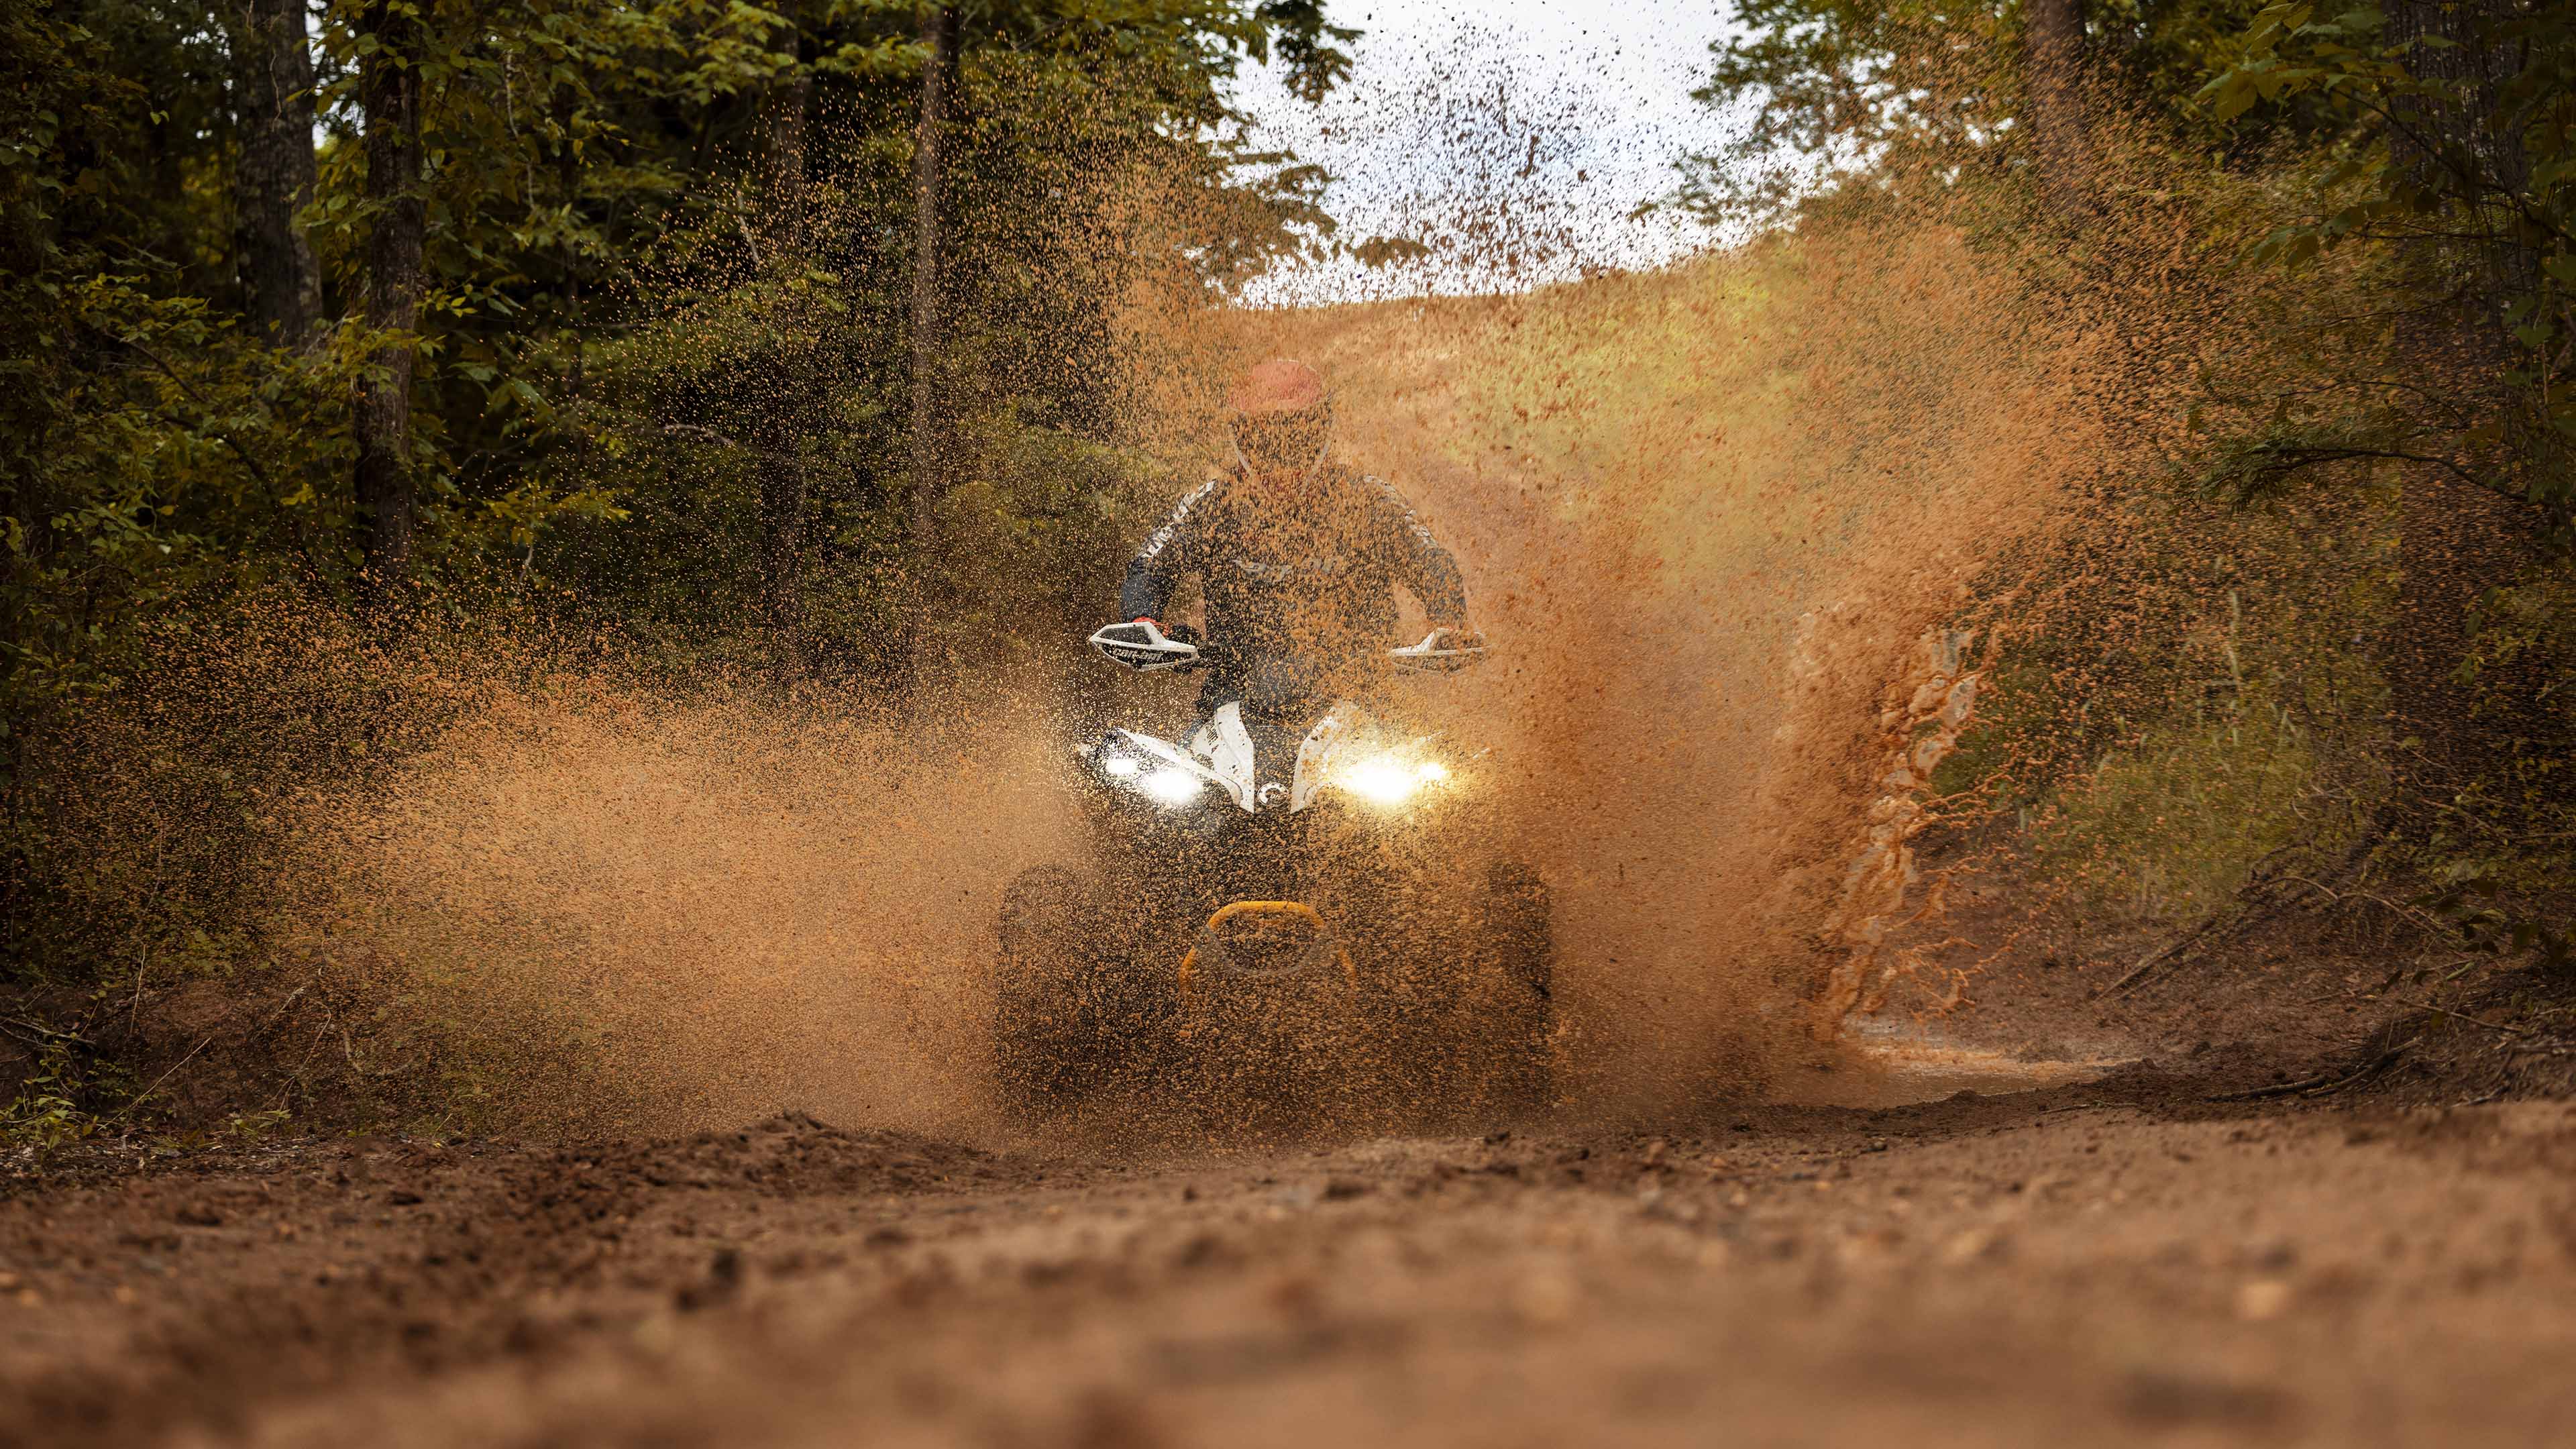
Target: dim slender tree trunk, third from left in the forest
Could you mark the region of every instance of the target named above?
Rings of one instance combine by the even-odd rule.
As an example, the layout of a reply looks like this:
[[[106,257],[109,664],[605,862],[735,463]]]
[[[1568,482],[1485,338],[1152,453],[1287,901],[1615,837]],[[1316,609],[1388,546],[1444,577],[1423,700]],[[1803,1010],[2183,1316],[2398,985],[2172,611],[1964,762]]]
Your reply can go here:
[[[773,250],[793,245],[793,211],[806,180],[806,106],[814,83],[804,75],[775,83],[760,106],[762,157],[768,168],[765,229]],[[801,330],[791,330],[801,333]],[[804,518],[806,472],[801,456],[804,400],[814,392],[814,369],[801,366],[804,345],[783,343],[778,353],[778,394],[760,428],[760,606],[770,632],[770,663],[783,683],[806,673],[804,639]]]

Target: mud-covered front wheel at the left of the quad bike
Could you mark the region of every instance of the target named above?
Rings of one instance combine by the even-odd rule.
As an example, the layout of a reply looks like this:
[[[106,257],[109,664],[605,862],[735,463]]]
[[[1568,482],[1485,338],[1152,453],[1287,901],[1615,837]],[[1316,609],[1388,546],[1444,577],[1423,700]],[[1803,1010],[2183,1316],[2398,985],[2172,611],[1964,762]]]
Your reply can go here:
[[[1090,895],[1066,866],[1030,866],[1002,892],[992,1075],[1002,1106],[1020,1116],[1077,1101],[1097,1075],[1082,1011]]]

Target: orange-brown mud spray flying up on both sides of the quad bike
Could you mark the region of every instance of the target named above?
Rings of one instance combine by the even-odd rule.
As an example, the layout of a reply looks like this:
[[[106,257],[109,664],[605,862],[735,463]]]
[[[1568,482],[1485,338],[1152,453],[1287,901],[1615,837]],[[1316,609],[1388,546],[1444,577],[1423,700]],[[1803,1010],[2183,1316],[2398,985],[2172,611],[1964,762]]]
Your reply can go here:
[[[1458,235],[1579,235],[1517,214],[1507,168],[1461,175],[1445,214],[1486,224]],[[1066,248],[1175,206],[1110,180]],[[1149,492],[1211,462],[1236,366],[1293,353],[1337,387],[1342,456],[1458,552],[1497,660],[1422,704],[1497,745],[1510,848],[1556,887],[1566,1111],[1795,1093],[1888,977],[1924,776],[1978,704],[1981,639],[1947,621],[2107,451],[2099,345],[2025,289],[1940,222],[1504,297],[1133,286],[1123,443],[1162,459]],[[1115,575],[1072,593],[1105,616]],[[435,1026],[489,1122],[796,1106],[992,1137],[992,918],[1015,871],[1077,848],[1064,740],[1188,694],[1105,694],[1079,629],[1023,624],[992,652],[1033,665],[958,657],[896,712],[518,676],[319,825],[309,944]]]

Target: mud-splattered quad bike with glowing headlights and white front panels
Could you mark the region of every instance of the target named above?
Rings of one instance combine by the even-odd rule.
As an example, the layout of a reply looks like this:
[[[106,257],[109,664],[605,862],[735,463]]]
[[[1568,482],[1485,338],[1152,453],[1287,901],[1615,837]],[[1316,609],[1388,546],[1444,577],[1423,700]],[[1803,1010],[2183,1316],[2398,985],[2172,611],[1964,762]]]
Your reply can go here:
[[[1139,673],[1211,660],[1182,627],[1110,624]],[[1180,1111],[1208,1127],[1432,1129],[1551,1096],[1548,890],[1492,853],[1481,753],[1352,694],[1476,663],[1432,629],[1383,678],[1236,673],[1182,743],[1077,745],[1090,861],[1002,900],[994,1078],[1023,1119]]]

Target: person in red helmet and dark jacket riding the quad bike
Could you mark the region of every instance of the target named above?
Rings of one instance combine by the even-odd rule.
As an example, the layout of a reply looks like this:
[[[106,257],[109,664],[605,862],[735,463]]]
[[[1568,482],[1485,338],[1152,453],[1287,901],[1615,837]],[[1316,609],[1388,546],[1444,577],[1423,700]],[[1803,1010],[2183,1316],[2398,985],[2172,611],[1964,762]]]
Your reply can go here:
[[[1386,482],[1332,454],[1332,397],[1306,364],[1273,358],[1226,400],[1234,464],[1208,477],[1128,562],[1121,616],[1162,627],[1182,575],[1203,580],[1211,678],[1203,704],[1242,694],[1257,660],[1321,676],[1373,660],[1396,627],[1394,585],[1435,629],[1466,634],[1458,559]]]

